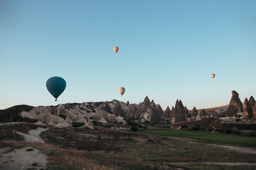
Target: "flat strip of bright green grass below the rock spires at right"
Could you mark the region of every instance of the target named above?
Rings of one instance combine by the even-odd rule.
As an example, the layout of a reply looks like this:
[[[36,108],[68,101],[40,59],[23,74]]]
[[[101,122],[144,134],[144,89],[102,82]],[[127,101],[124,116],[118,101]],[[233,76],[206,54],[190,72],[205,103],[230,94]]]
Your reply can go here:
[[[256,137],[230,135],[225,133],[201,132],[194,130],[147,130],[140,132],[159,136],[175,136],[198,139],[198,142],[206,144],[225,144],[234,146],[249,146],[256,148]]]

